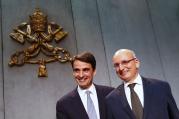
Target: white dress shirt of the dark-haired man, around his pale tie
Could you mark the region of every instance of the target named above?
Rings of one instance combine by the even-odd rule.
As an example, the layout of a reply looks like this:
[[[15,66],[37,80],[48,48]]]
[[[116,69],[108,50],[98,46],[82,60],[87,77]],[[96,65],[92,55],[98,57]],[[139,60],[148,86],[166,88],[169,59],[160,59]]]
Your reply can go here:
[[[77,88],[77,91],[78,91],[78,93],[80,95],[81,101],[83,103],[83,106],[85,107],[86,112],[87,112],[87,94],[86,94],[87,90],[89,90],[91,92],[90,97],[91,97],[91,99],[92,99],[92,101],[94,103],[97,118],[100,119],[98,96],[97,96],[96,88],[95,88],[94,84],[92,84],[90,86],[90,88],[88,88],[88,89],[81,89],[79,86]]]

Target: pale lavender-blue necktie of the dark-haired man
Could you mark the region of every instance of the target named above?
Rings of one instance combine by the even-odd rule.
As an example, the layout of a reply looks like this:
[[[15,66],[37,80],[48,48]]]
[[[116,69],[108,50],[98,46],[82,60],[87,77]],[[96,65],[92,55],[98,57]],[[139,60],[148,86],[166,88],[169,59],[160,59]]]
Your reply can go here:
[[[94,108],[94,104],[93,101],[90,97],[90,91],[86,91],[87,94],[87,113],[88,113],[88,117],[89,119],[97,119],[97,114]]]

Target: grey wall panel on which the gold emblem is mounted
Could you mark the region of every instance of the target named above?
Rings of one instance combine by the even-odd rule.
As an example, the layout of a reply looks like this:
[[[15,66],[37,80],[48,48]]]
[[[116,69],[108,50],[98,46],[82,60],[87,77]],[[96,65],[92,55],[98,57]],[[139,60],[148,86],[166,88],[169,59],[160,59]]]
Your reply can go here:
[[[48,15],[49,21],[69,32],[59,47],[76,54],[70,0],[2,0],[3,69],[6,119],[55,119],[56,101],[74,88],[70,63],[47,64],[48,78],[38,78],[38,65],[8,67],[11,54],[25,48],[10,39],[12,29],[32,14],[36,7]],[[70,45],[69,45],[70,44]]]

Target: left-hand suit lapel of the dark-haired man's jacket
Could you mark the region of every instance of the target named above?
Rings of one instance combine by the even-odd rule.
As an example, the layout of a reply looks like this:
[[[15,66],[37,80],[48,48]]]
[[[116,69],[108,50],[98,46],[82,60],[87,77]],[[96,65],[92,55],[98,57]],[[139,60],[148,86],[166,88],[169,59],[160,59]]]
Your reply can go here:
[[[83,106],[83,103],[81,101],[81,98],[80,98],[80,96],[78,94],[77,89],[75,89],[73,91],[72,100],[73,100],[74,107],[76,107],[75,113],[77,113],[79,115],[79,118],[89,119],[88,114],[87,114],[87,112],[86,112],[86,110],[85,110],[85,108]]]

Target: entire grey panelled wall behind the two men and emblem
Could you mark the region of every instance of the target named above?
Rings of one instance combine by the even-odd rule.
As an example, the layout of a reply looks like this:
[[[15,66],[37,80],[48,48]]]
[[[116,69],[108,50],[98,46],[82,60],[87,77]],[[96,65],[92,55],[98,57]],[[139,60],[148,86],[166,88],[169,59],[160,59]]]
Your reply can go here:
[[[10,55],[24,48],[9,33],[36,7],[68,32],[60,47],[94,53],[95,83],[121,83],[111,58],[129,48],[141,60],[141,75],[168,81],[179,105],[178,0],[1,0],[0,119],[55,119],[56,101],[75,87],[69,63],[47,64],[47,78],[37,77],[37,65],[8,67]]]

